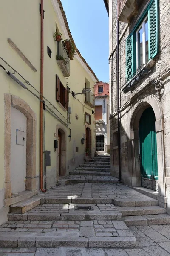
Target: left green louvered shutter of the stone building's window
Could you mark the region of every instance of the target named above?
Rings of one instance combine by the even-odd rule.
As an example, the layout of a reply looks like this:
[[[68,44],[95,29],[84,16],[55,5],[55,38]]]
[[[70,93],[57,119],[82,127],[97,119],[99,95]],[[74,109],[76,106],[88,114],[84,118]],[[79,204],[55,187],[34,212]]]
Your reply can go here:
[[[133,74],[133,34],[126,39],[126,81]]]

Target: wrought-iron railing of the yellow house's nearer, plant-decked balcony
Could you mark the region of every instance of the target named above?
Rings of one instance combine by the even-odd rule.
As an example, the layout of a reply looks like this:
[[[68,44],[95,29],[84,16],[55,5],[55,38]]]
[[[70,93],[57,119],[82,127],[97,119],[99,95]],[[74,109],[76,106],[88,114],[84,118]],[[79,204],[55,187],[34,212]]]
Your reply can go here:
[[[68,73],[70,73],[70,58],[65,48],[64,42],[57,42],[57,59],[63,60]]]

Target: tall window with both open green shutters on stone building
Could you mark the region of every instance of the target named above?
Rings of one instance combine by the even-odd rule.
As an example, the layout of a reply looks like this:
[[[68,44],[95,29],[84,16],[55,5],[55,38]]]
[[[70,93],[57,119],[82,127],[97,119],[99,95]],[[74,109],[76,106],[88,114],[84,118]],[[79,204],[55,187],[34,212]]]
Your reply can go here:
[[[126,81],[158,53],[158,0],[151,0],[126,39]]]

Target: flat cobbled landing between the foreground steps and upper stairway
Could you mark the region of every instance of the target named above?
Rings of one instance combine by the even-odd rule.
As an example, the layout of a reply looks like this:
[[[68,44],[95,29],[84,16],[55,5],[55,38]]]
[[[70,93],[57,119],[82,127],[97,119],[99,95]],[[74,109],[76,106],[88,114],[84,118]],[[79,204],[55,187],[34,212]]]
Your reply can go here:
[[[105,178],[105,176],[104,176]],[[122,199],[143,199],[150,200],[150,197],[143,195],[128,186],[116,183],[78,183],[67,186],[55,186],[44,194],[45,198],[122,198]]]

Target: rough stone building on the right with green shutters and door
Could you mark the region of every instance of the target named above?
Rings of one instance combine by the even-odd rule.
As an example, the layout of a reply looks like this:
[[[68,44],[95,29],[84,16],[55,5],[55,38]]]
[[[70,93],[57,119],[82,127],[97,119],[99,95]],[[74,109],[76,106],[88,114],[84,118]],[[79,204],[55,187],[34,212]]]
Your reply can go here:
[[[157,197],[170,212],[170,2],[104,2],[109,13],[111,173]]]

